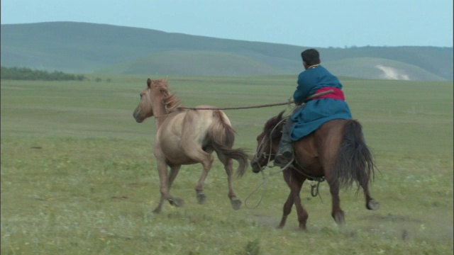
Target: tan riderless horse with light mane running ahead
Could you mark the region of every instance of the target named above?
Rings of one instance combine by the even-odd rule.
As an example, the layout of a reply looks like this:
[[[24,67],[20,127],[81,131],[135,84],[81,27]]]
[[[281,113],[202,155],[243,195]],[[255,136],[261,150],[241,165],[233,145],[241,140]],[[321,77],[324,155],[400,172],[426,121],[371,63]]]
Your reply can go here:
[[[237,175],[243,176],[248,167],[248,155],[243,149],[232,149],[235,131],[223,111],[184,111],[179,107],[179,99],[170,94],[165,79],[148,79],[133,116],[138,123],[142,123],[145,118],[155,117],[157,133],[154,154],[160,178],[161,199],[154,212],[161,211],[164,200],[175,206],[183,204],[181,198],[170,195],[170,187],[180,166],[186,164],[200,163],[203,166],[196,186],[196,198],[199,204],[204,203],[206,196],[203,186],[213,164],[213,152],[216,152],[226,169],[228,198],[233,209],[241,207],[241,200],[233,192],[233,159],[238,161]],[[167,166],[170,166],[170,173],[167,172]]]

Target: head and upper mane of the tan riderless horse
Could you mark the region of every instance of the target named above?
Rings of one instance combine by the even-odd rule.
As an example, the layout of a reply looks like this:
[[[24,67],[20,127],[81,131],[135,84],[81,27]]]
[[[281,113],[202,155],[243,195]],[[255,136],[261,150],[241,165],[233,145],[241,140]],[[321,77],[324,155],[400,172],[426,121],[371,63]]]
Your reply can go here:
[[[170,94],[166,79],[147,79],[147,87],[140,92],[140,102],[135,108],[135,121],[142,123],[146,118],[165,115],[172,111],[179,111],[179,99]]]

